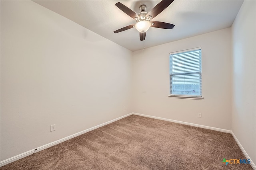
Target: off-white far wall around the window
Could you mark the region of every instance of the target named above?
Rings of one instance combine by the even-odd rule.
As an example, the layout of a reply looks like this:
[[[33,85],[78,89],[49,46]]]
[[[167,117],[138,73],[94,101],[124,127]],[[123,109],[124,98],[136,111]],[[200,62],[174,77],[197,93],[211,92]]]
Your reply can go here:
[[[168,98],[169,53],[202,47],[204,100]],[[231,130],[231,28],[166,43],[132,57],[133,111]],[[198,118],[198,112],[202,118]]]

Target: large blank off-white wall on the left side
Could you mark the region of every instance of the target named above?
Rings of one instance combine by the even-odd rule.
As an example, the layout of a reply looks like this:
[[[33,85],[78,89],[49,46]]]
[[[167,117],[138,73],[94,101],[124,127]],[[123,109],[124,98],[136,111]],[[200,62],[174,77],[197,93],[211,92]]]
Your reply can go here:
[[[32,1],[1,1],[1,161],[131,113],[131,57]]]

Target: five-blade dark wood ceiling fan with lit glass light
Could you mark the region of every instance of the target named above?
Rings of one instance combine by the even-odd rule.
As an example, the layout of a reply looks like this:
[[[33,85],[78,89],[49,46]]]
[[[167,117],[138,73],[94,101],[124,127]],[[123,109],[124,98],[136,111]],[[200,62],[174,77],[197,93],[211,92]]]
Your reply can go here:
[[[144,41],[146,37],[146,31],[148,31],[149,27],[156,27],[156,28],[164,28],[164,29],[172,29],[174,27],[171,23],[160,22],[160,21],[150,21],[158,14],[160,14],[165,8],[167,8],[174,0],[162,0],[159,2],[152,10],[149,12],[145,12],[146,5],[140,6],[140,13],[136,14],[130,8],[125,6],[124,4],[118,2],[115,5],[122,10],[125,14],[132,17],[136,24],[128,25],[126,27],[120,28],[114,33],[119,33],[125,31],[127,29],[135,27],[140,32],[140,41]]]

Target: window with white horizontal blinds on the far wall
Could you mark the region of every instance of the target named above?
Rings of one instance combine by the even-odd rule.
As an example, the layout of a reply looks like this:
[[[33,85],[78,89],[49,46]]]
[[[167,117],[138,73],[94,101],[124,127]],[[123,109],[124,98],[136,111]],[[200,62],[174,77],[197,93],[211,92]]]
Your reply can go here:
[[[201,48],[170,53],[169,97],[202,99]]]

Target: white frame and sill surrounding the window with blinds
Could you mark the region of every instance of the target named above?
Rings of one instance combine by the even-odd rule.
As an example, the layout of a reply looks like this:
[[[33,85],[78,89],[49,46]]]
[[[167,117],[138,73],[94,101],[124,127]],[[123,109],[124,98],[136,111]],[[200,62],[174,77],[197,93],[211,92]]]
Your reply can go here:
[[[176,52],[171,52],[169,53],[169,64],[171,64],[171,55],[174,54],[178,54],[178,53],[185,53],[185,52],[190,52],[190,51],[196,51],[196,50],[201,50],[201,63],[200,63],[200,79],[201,79],[201,84],[200,84],[200,91],[201,91],[201,96],[199,95],[185,95],[185,94],[171,94],[171,65],[169,65],[169,98],[180,98],[180,99],[195,99],[195,100],[202,100],[204,99],[202,96],[202,48],[201,47],[197,47],[197,48],[193,48],[193,49],[186,49],[186,50],[182,50],[182,51],[176,51]],[[188,73],[191,74],[191,73]],[[184,74],[184,75],[188,75],[188,74]]]

